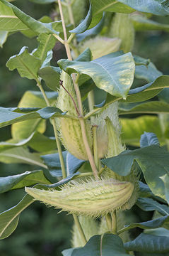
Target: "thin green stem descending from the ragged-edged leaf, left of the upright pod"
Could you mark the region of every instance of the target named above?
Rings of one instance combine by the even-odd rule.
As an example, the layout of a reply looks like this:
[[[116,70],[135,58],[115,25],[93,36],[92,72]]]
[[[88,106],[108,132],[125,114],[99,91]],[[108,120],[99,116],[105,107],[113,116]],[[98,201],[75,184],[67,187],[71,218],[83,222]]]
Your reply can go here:
[[[49,103],[49,100],[47,99],[47,95],[45,93],[45,90],[43,90],[43,87],[40,83],[39,80],[37,80],[37,86],[40,88],[40,91],[42,92],[42,95],[44,97],[44,100],[47,104],[47,107],[50,107],[50,103]],[[61,148],[61,144],[60,144],[60,141],[59,141],[59,138],[58,138],[58,135],[57,135],[57,126],[56,126],[56,123],[55,123],[55,120],[52,119],[52,126],[53,126],[53,129],[54,129],[54,136],[55,136],[55,139],[56,139],[56,142],[57,142],[57,150],[58,150],[58,153],[59,153],[59,159],[60,159],[60,164],[61,164],[61,169],[62,169],[62,176],[63,178],[66,178],[66,170],[65,170],[65,166],[64,166],[64,158],[63,158],[63,155],[62,155],[62,148]]]

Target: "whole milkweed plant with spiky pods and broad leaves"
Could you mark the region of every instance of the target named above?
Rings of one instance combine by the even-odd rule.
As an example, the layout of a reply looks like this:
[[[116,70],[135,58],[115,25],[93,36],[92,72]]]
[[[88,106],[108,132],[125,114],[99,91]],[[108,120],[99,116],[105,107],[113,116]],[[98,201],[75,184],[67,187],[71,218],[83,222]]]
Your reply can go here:
[[[13,163],[20,156],[20,162],[37,166],[0,178],[1,193],[26,192],[0,214],[1,239],[13,233],[21,212],[36,200],[74,218],[72,247],[64,256],[168,255],[169,94],[164,88],[169,76],[151,60],[133,55],[132,48],[135,31],[169,31],[168,24],[151,18],[168,16],[169,2],[31,1],[53,3],[59,15],[37,21],[0,0],[1,44],[11,32],[37,38],[32,53],[24,46],[6,67],[34,80],[40,90],[25,92],[18,107],[0,108],[0,126],[11,124],[12,135],[0,144],[0,160]],[[52,66],[57,41],[67,58]],[[95,105],[98,94],[102,102]],[[127,114],[141,115],[124,118]],[[55,139],[43,134],[46,122]],[[153,210],[153,218],[127,223],[126,213],[134,205]],[[131,239],[136,227],[140,235]]]

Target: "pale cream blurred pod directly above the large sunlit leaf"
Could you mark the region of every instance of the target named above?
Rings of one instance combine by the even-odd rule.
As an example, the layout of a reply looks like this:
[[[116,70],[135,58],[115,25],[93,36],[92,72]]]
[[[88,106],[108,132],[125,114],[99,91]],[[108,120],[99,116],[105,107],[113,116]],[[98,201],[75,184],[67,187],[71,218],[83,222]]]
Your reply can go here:
[[[95,36],[86,41],[82,41],[78,44],[78,50],[80,53],[86,48],[91,49],[93,60],[100,58],[103,55],[114,53],[120,48],[120,38],[106,38],[103,36]]]

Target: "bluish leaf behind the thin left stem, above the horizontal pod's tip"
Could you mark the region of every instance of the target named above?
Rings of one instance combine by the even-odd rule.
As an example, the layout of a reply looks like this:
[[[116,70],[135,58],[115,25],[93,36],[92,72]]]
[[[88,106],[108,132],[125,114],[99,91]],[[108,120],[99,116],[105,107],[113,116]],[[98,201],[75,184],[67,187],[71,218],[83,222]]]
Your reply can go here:
[[[71,174],[74,174],[84,163],[83,160],[76,159],[75,156],[72,156],[68,151],[62,152],[64,157],[64,165],[66,167],[66,174],[67,176],[70,176]],[[59,159],[59,154],[47,154],[44,156],[41,156],[44,163],[47,165],[50,174],[53,177],[62,176],[62,169]]]

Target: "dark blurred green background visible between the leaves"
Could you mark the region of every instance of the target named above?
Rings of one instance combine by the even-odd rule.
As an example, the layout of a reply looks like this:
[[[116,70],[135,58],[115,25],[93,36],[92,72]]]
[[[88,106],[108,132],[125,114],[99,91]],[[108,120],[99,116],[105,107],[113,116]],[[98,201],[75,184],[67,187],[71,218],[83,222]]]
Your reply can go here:
[[[54,5],[37,5],[29,1],[17,0],[16,6],[34,18],[52,14]],[[169,23],[169,18],[153,17],[161,23]],[[21,33],[13,33],[8,37],[3,48],[0,48],[0,102],[2,107],[16,107],[25,90],[37,90],[35,82],[20,78],[17,71],[9,71],[6,62],[11,55],[17,54],[23,46],[30,51],[37,47],[35,38],[25,38]],[[169,33],[148,31],[136,33],[133,52],[144,58],[150,58],[156,67],[169,75]],[[59,43],[54,48],[53,64],[59,58],[65,57],[64,49]],[[52,136],[52,131],[48,131]],[[11,138],[10,127],[1,128],[0,140]],[[24,171],[31,171],[33,166],[24,164],[0,164],[1,175],[7,176]],[[15,206],[23,197],[23,190],[1,194],[0,212]],[[61,251],[71,246],[71,225],[73,218],[58,210],[47,208],[40,203],[33,203],[22,214],[15,232],[5,240],[0,240],[1,256],[60,256]],[[145,221],[148,214],[135,209],[135,216],[139,221]],[[144,215],[143,215],[144,214]]]

